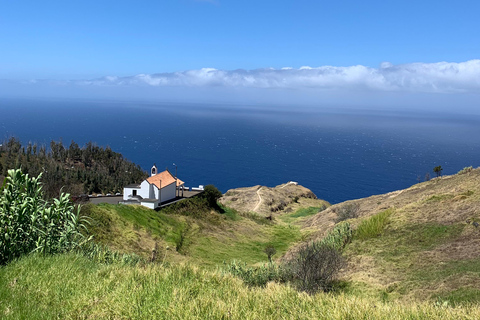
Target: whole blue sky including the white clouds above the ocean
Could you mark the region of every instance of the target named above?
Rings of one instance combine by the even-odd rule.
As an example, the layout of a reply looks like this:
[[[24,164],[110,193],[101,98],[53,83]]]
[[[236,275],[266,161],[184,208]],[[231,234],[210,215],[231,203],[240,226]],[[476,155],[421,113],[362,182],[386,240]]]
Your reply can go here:
[[[0,0],[0,96],[475,108],[478,12],[473,0]]]

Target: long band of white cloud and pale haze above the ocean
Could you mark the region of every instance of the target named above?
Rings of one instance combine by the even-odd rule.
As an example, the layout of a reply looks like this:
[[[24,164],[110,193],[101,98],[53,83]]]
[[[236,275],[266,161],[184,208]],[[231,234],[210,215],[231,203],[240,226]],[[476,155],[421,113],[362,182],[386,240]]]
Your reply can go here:
[[[89,80],[0,80],[0,97],[362,107],[479,113],[480,60],[378,68],[203,68]]]

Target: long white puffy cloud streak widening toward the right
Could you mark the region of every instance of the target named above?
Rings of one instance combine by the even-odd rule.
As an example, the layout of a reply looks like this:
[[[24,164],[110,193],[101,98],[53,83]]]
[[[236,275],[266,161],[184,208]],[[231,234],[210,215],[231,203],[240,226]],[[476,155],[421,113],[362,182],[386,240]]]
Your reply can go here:
[[[131,77],[108,76],[75,82],[80,85],[99,86],[313,88],[342,91],[347,89],[477,93],[480,92],[480,60],[401,65],[383,62],[379,68],[362,65],[234,71],[203,68],[174,73],[139,74]]]

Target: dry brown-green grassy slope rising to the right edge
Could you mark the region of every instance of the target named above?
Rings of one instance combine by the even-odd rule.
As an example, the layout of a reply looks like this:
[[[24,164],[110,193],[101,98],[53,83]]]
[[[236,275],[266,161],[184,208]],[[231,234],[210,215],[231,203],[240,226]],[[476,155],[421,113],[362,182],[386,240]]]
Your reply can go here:
[[[302,230],[322,237],[352,203],[358,217],[349,221],[357,235],[347,246],[349,267],[342,275],[349,292],[382,300],[480,302],[480,169],[331,206]],[[360,236],[358,229],[388,208],[379,230]]]

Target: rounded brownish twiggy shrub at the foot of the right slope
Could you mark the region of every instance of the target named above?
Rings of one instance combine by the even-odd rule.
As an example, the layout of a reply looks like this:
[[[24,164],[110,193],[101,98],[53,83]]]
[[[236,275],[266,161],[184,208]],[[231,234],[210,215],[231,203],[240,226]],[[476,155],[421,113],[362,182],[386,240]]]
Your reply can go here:
[[[287,264],[287,274],[301,291],[330,291],[346,261],[340,252],[324,243],[311,242],[302,246]]]

